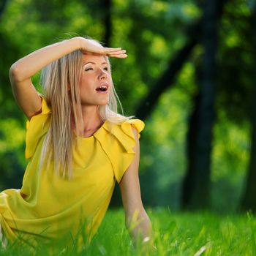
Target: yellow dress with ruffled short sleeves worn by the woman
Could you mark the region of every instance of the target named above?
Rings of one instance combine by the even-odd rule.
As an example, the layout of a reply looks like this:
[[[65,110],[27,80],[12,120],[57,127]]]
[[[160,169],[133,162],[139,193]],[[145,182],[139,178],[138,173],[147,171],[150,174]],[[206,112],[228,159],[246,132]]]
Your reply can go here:
[[[72,148],[73,175],[68,180],[53,170],[38,171],[49,124],[50,108],[43,99],[42,113],[27,122],[29,164],[23,185],[0,193],[0,224],[8,242],[18,238],[37,246],[64,236],[73,241],[82,235],[90,240],[107,211],[115,181],[121,181],[135,155],[132,126],[138,132],[144,128],[139,119],[121,124],[105,121],[91,137],[79,137],[79,147]]]

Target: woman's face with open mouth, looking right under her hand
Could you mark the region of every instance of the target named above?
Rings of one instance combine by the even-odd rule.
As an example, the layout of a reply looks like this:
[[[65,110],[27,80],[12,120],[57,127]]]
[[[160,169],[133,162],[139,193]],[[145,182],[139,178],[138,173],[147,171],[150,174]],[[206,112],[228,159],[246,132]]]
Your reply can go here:
[[[111,84],[110,67],[104,56],[83,54],[79,81],[81,104],[107,105]]]

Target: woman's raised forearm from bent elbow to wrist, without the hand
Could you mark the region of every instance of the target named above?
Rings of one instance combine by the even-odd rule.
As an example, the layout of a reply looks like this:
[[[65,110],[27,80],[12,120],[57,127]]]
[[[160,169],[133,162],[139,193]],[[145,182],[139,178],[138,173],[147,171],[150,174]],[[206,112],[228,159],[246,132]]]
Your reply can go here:
[[[57,42],[30,53],[12,64],[10,75],[15,77],[17,81],[31,78],[39,70],[56,59],[74,50],[78,50],[80,48],[79,40],[78,37],[73,37],[72,39]]]

